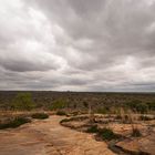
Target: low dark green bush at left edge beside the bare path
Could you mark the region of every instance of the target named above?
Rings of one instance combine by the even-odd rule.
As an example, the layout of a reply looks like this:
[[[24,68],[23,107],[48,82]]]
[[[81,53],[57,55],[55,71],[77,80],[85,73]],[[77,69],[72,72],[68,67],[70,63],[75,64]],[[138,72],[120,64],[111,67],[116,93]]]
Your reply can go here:
[[[4,123],[4,124],[0,124],[0,130],[4,130],[4,128],[16,128],[22,124],[25,123],[30,123],[31,121],[29,118],[25,117],[16,117],[14,120]]]

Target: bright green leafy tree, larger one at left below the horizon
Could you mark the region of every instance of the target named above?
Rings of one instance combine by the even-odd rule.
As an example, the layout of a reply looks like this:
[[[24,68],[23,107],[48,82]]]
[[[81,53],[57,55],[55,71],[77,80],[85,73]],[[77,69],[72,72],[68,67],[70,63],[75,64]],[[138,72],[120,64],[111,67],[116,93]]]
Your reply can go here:
[[[34,107],[34,102],[30,93],[19,93],[13,100],[13,110],[30,111]]]

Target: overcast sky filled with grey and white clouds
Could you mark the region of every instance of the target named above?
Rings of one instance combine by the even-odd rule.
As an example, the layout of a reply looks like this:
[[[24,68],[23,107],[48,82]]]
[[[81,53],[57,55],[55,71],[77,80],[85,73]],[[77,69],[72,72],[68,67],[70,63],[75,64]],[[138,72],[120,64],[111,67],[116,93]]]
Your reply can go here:
[[[0,0],[0,90],[155,92],[155,0]]]

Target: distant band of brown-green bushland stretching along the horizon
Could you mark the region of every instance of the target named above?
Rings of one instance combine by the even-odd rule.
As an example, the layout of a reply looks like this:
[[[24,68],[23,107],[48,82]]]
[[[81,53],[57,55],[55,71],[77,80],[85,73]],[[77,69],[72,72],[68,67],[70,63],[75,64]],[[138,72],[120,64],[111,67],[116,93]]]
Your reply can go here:
[[[155,93],[90,93],[51,91],[1,91],[0,110],[87,110],[108,113],[116,108],[155,111]]]

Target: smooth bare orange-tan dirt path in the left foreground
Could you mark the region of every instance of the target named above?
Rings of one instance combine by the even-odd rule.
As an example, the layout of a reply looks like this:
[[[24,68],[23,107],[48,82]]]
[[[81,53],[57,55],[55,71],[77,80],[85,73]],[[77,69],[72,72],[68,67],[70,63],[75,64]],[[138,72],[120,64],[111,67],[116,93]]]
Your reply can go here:
[[[16,130],[0,131],[0,155],[114,155],[92,135],[63,127],[51,116]]]

